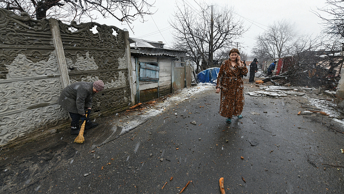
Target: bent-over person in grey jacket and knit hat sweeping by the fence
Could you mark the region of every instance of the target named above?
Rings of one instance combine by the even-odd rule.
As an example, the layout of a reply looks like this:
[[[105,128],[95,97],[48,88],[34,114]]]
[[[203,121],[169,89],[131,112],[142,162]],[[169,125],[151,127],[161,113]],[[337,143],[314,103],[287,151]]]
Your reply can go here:
[[[103,89],[104,82],[102,80],[97,80],[95,82],[76,82],[62,90],[57,103],[61,105],[61,107],[65,108],[72,118],[70,126],[71,135],[79,134],[80,119],[82,122],[86,121],[85,130],[98,126],[97,123],[92,123],[89,117],[92,108],[93,95]]]

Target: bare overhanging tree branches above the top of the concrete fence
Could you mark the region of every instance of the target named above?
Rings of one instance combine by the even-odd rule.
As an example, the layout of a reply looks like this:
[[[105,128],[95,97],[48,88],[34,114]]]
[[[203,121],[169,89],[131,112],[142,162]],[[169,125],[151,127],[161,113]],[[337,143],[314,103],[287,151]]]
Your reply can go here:
[[[0,7],[16,14],[24,11],[36,19],[52,17],[80,22],[85,17],[96,19],[94,14],[99,12],[104,18],[111,16],[128,24],[152,14],[149,8],[153,4],[147,0],[0,0]]]

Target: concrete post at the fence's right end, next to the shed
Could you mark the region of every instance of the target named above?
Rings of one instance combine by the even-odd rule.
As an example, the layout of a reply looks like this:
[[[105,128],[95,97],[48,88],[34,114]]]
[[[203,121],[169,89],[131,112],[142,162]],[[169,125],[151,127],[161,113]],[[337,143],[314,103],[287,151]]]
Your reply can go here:
[[[134,88],[134,81],[133,79],[136,78],[136,75],[134,76],[134,72],[136,72],[132,65],[131,60],[131,52],[130,52],[130,43],[129,43],[129,31],[127,29],[124,30],[124,41],[125,41],[125,50],[126,50],[126,57],[127,57],[127,68],[128,68],[128,79],[129,79],[129,85],[130,85],[130,98],[132,101],[132,105],[135,104],[135,95],[134,92],[136,89]],[[137,72],[136,72],[137,73]],[[138,83],[136,83],[138,84]]]

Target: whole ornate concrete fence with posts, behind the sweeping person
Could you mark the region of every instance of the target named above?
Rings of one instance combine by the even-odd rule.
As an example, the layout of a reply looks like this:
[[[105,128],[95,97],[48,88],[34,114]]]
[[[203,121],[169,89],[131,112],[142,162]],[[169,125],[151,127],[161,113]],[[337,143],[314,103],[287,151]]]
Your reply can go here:
[[[34,20],[0,9],[0,146],[68,123],[68,112],[56,101],[74,82],[104,81],[94,115],[134,104],[128,39],[128,31],[115,26]]]

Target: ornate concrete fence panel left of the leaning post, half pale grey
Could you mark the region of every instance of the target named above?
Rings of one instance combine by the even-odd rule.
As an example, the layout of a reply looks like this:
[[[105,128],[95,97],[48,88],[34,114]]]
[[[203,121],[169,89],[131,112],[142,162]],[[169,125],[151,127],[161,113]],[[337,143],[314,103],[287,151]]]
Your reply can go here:
[[[69,118],[49,21],[0,9],[0,145]]]

